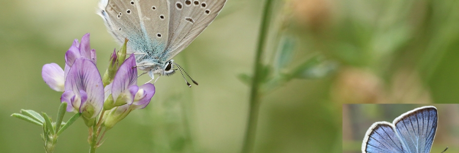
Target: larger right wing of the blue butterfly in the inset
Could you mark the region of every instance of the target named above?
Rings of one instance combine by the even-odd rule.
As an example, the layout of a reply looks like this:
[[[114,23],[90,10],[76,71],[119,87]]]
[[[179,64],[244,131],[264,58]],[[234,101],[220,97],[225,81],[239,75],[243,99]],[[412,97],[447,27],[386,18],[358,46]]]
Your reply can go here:
[[[437,132],[437,109],[426,106],[406,112],[393,124],[401,142],[409,152],[430,152]]]

